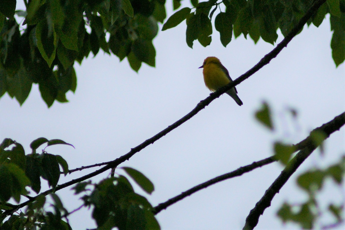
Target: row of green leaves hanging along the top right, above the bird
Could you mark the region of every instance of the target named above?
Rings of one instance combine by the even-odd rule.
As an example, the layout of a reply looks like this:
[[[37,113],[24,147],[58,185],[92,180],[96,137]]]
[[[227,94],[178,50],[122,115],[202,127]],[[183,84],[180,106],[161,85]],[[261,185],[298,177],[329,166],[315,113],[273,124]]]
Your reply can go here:
[[[214,20],[215,29],[220,33],[220,41],[224,47],[234,36],[249,34],[256,43],[261,37],[274,44],[278,35],[277,29],[286,36],[303,17],[314,1],[311,0],[209,0],[205,2],[191,1],[194,8],[185,7],[178,10],[163,25],[162,30],[177,26],[186,19],[186,42],[192,48],[198,40],[204,47],[211,43],[211,19],[219,8]],[[176,3],[176,4],[175,4]],[[179,8],[179,1],[174,1],[174,9]],[[225,8],[225,12],[221,7]],[[192,11],[195,9],[194,11]],[[191,12],[192,11],[192,12]],[[345,1],[327,0],[308,20],[318,27],[327,13],[331,14],[333,33],[331,48],[333,60],[338,66],[345,60]],[[299,31],[301,32],[302,29]]]

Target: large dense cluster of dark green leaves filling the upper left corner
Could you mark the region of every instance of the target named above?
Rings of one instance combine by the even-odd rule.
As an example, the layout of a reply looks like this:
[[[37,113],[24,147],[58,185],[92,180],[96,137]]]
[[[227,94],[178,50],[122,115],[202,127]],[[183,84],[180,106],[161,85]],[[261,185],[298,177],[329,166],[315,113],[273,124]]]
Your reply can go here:
[[[138,71],[155,66],[152,39],[166,17],[164,0],[31,0],[15,11],[16,0],[0,3],[0,97],[5,93],[22,104],[32,83],[39,84],[50,107],[67,102],[77,87],[75,61],[100,49],[110,51]],[[23,26],[14,14],[24,17]],[[110,34],[110,38],[106,34]]]

